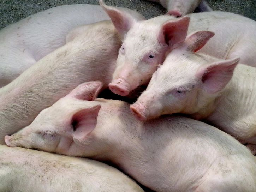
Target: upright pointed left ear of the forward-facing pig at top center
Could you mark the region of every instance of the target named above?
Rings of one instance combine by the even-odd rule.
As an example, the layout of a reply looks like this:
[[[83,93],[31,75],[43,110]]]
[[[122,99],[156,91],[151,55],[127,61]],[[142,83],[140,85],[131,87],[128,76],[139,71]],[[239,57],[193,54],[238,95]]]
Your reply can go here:
[[[107,6],[103,0],[99,0],[99,2],[100,6],[112,20],[112,23],[114,24],[119,34],[124,36],[126,32],[129,31],[133,23],[135,23],[135,19],[133,19],[133,17],[127,12]]]

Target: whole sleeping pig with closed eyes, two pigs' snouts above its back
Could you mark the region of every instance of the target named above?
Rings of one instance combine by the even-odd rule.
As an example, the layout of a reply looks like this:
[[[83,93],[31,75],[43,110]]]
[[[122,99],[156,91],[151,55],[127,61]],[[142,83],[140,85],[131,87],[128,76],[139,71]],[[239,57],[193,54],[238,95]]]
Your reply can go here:
[[[6,144],[108,161],[156,192],[255,192],[256,158],[236,139],[181,116],[139,121],[124,101],[88,101],[101,86],[79,85]]]

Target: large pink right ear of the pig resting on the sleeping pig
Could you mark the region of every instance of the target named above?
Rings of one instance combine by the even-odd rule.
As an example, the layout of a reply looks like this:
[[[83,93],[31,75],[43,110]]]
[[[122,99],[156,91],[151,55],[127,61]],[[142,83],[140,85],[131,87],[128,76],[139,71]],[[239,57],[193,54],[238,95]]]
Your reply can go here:
[[[233,76],[240,58],[219,61],[210,66],[201,67],[196,73],[202,81],[202,88],[209,94],[220,92]]]

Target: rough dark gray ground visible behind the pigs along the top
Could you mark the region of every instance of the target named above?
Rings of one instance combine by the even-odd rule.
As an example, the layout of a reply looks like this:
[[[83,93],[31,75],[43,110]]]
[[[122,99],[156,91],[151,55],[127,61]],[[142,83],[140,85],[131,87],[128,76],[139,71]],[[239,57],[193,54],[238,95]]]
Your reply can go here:
[[[107,5],[126,7],[151,18],[165,13],[161,5],[145,0],[105,0]],[[207,0],[214,11],[229,11],[256,20],[256,0]],[[0,29],[51,7],[69,4],[98,4],[98,0],[0,0]]]

